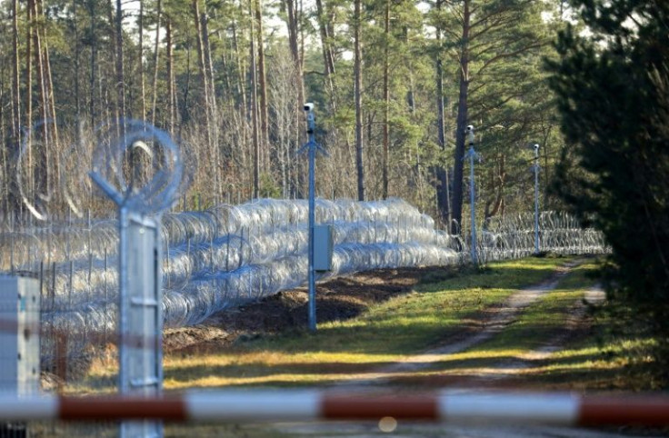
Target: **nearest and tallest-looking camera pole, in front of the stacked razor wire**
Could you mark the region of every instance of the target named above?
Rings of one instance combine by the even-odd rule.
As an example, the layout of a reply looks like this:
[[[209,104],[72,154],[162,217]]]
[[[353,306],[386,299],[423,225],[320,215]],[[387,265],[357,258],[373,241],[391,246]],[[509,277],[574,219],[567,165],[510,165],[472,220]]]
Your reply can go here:
[[[315,115],[314,104],[305,104],[306,134],[309,141],[302,146],[300,153],[308,148],[309,152],[309,330],[316,331],[316,282],[314,270],[314,226],[315,226],[315,155],[316,150],[325,154],[323,148],[314,139]]]

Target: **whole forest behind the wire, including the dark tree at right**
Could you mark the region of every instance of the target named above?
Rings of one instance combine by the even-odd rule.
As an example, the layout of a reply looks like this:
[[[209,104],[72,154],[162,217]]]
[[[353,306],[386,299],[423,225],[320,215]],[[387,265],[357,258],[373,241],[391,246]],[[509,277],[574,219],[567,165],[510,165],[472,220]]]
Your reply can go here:
[[[604,233],[616,319],[663,333],[666,377],[667,23],[656,0],[0,0],[0,217],[109,216],[88,171],[119,119],[179,145],[175,209],[305,197],[314,102],[318,196],[458,233],[473,124],[477,221],[531,212],[539,164],[541,209]]]

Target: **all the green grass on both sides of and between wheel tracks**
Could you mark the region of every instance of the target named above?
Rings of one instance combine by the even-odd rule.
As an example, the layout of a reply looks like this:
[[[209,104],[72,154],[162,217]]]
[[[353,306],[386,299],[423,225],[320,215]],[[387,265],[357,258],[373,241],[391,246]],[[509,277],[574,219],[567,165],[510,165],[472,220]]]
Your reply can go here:
[[[568,258],[528,258],[490,264],[483,270],[435,270],[414,292],[375,304],[354,319],[319,324],[317,333],[292,331],[242,340],[220,352],[211,350],[165,357],[165,389],[254,386],[313,386],[346,380],[389,377],[398,384],[451,384],[449,379],[497,373],[500,363],[524,361],[506,373],[517,387],[560,390],[657,389],[653,333],[631,326],[624,333],[612,314],[591,317],[590,330],[565,336],[564,349],[536,356],[546,340],[564,333],[574,304],[595,280],[594,260],[565,275],[554,291],[531,304],[501,333],[454,354],[433,354],[423,368],[380,375],[380,370],[443,343],[482,312],[510,294],[540,283]],[[631,311],[630,311],[631,312]],[[620,325],[620,324],[618,324]],[[587,327],[585,327],[587,329]],[[115,367],[97,367],[91,381],[111,376]],[[436,381],[434,379],[437,379]],[[439,380],[442,379],[442,380]],[[456,384],[456,383],[455,383]],[[95,392],[95,388],[91,390]]]

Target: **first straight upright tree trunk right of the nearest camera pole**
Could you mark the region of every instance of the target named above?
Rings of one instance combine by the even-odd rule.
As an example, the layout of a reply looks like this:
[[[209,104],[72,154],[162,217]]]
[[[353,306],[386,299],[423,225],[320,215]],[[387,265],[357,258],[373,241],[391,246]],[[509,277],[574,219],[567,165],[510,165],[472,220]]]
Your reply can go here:
[[[354,0],[354,101],[355,101],[355,169],[357,171],[358,201],[364,201],[363,162],[363,72],[361,50],[361,3]]]

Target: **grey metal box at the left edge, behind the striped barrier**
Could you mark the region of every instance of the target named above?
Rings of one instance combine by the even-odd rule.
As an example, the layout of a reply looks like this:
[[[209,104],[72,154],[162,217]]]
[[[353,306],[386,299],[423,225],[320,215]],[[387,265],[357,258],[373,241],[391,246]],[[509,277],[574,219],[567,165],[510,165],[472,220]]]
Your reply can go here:
[[[0,275],[0,391],[39,391],[39,282]]]

